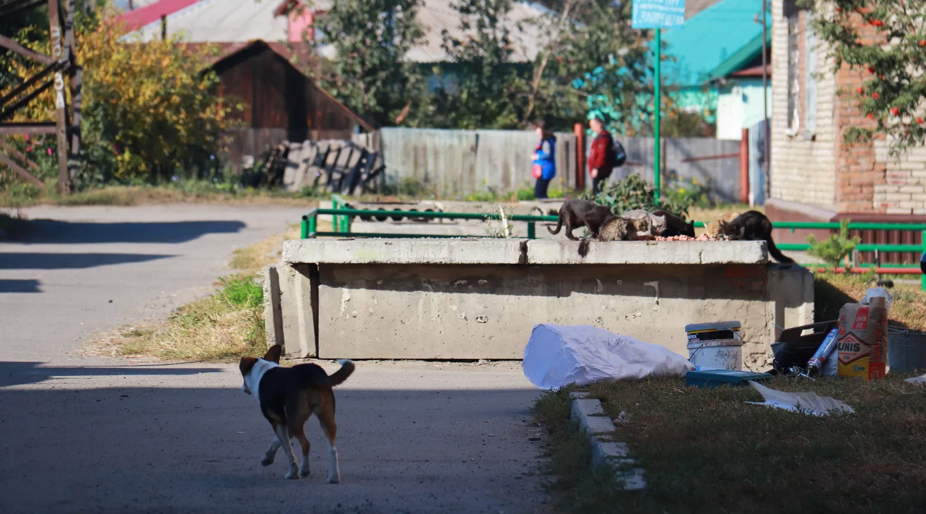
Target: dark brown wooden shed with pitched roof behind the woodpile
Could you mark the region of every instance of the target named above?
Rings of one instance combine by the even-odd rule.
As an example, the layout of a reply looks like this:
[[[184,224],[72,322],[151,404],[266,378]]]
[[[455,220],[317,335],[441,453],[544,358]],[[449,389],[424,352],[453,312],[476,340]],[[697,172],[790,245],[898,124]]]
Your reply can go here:
[[[233,113],[243,127],[228,134],[224,165],[239,172],[281,141],[338,139],[372,127],[338,102],[286,58],[282,49],[257,40],[222,45],[212,63],[219,94],[244,105]]]

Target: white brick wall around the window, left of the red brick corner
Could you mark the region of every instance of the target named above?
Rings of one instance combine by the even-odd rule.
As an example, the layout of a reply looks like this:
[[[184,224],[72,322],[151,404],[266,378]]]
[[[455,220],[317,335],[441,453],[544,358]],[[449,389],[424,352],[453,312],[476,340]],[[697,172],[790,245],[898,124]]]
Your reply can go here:
[[[823,75],[817,86],[816,141],[807,141],[798,128],[789,135],[788,22],[782,17],[782,0],[771,3],[771,196],[832,209],[836,198],[836,163],[833,99],[835,77],[829,72],[825,48],[817,51],[817,69]],[[803,118],[804,105],[799,105]]]

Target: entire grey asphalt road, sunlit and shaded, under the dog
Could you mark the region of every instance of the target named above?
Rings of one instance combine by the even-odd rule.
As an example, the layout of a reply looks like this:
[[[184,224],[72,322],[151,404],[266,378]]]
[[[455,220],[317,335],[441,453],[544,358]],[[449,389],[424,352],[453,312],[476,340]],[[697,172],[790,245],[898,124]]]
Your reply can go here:
[[[517,364],[358,362],[337,388],[343,483],[262,467],[271,438],[233,365],[84,357],[89,337],[206,293],[232,250],[302,209],[42,207],[0,241],[3,512],[546,512],[537,391]],[[110,301],[111,300],[111,301]],[[323,362],[330,371],[336,364]]]

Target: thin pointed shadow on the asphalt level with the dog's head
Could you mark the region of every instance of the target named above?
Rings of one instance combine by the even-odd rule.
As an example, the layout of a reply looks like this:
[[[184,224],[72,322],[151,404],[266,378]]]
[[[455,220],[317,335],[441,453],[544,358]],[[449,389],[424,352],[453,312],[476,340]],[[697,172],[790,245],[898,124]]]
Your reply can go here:
[[[188,375],[221,373],[221,368],[174,368],[158,364],[157,367],[131,366],[124,368],[94,366],[43,366],[42,362],[0,361],[0,387],[38,384],[53,376],[137,376],[137,375]]]

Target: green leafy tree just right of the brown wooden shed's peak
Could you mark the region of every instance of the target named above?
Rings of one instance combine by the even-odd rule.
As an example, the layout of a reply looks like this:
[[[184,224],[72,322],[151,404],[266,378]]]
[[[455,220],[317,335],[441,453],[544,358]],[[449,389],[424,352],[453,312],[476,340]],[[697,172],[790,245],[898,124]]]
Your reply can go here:
[[[405,60],[419,40],[420,0],[338,0],[319,16],[320,42],[334,57],[321,59],[315,79],[341,102],[378,126],[397,124],[417,108],[420,73]]]

